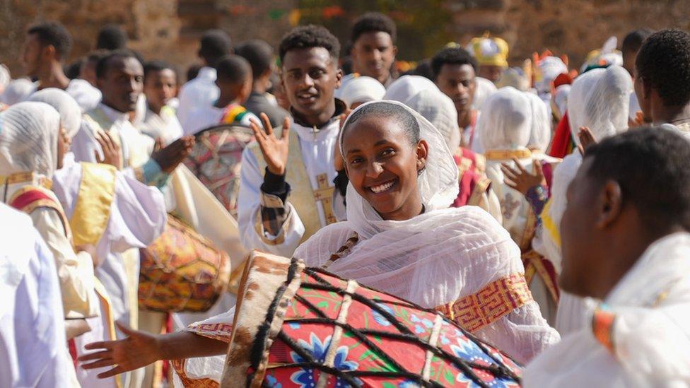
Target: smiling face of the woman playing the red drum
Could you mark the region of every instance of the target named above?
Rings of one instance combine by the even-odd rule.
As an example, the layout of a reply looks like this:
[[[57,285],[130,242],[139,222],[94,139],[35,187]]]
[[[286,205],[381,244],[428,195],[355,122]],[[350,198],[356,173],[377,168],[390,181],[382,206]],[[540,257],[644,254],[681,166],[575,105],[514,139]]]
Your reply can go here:
[[[384,220],[419,215],[417,175],[426,163],[426,141],[412,145],[396,119],[369,116],[347,127],[343,149],[351,184]]]

